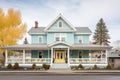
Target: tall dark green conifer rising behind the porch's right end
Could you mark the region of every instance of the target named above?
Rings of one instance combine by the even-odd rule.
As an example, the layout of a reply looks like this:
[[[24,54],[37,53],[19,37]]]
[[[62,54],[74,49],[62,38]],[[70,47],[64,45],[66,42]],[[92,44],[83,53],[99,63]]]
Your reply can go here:
[[[99,45],[109,45],[109,34],[108,29],[101,18],[99,22],[96,25],[96,30],[93,35],[94,43],[93,44],[99,44]]]

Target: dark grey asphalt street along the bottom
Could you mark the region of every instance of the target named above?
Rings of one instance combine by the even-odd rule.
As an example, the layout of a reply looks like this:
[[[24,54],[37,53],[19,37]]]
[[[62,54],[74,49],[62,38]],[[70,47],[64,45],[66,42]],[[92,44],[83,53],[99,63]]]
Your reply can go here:
[[[44,75],[44,74],[0,74],[0,80],[120,80],[119,75]]]

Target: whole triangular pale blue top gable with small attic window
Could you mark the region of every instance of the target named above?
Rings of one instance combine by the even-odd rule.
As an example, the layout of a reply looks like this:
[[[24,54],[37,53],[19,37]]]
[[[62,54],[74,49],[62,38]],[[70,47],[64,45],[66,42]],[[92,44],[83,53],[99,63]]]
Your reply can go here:
[[[60,14],[45,28],[45,31],[76,31],[76,29]]]

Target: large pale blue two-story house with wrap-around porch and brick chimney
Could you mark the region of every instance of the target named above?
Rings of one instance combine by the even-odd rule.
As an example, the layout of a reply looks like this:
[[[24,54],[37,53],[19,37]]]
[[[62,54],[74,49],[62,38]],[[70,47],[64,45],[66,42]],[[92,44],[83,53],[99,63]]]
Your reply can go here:
[[[110,46],[93,45],[89,42],[92,34],[88,27],[74,27],[61,14],[47,27],[38,27],[38,22],[28,34],[31,44],[6,46],[6,61],[20,66],[31,67],[33,63],[41,66],[50,64],[51,68],[70,68],[82,64],[86,67],[105,67],[108,64],[107,52]],[[9,54],[12,50],[12,54]]]

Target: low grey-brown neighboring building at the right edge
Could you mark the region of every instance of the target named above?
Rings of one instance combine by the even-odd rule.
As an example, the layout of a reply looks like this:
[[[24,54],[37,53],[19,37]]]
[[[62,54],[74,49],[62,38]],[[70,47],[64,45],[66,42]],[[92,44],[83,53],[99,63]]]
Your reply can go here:
[[[109,52],[108,55],[109,64],[113,66],[113,68],[120,68],[120,51],[117,49],[113,49]]]

